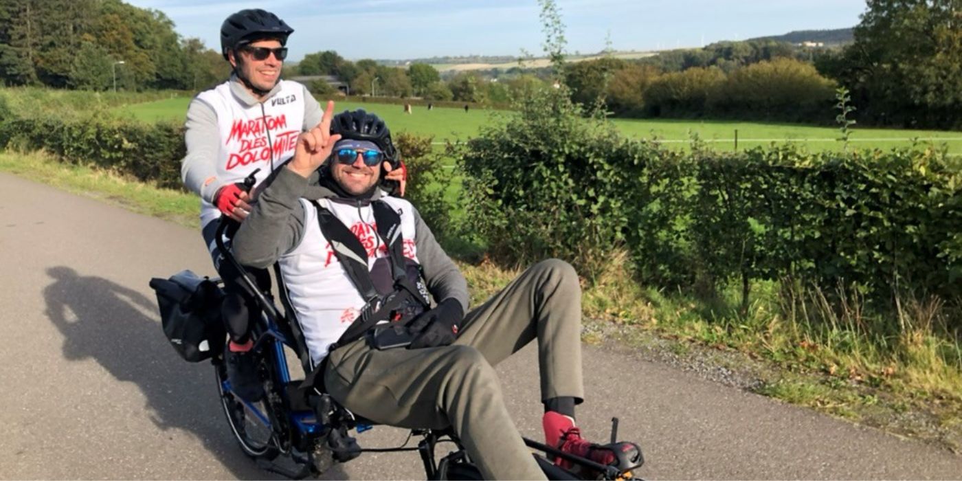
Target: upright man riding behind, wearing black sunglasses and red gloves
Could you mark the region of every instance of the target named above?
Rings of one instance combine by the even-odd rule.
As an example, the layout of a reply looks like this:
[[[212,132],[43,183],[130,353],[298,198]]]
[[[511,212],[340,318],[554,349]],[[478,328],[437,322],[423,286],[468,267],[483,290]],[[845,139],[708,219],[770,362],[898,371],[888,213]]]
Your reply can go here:
[[[220,50],[233,67],[231,78],[190,102],[187,156],[181,165],[184,184],[201,197],[201,232],[227,291],[221,314],[231,338],[226,356],[231,383],[248,400],[263,393],[246,355],[256,303],[239,282],[240,273],[220,263],[214,235],[221,215],[241,222],[250,212],[252,192],[241,181],[249,175],[258,184],[264,181],[291,159],[297,136],[320,122],[320,106],[311,93],[280,77],[291,33],[284,20],[260,9],[242,10],[223,21]],[[269,285],[266,271],[253,273],[261,285]]]

